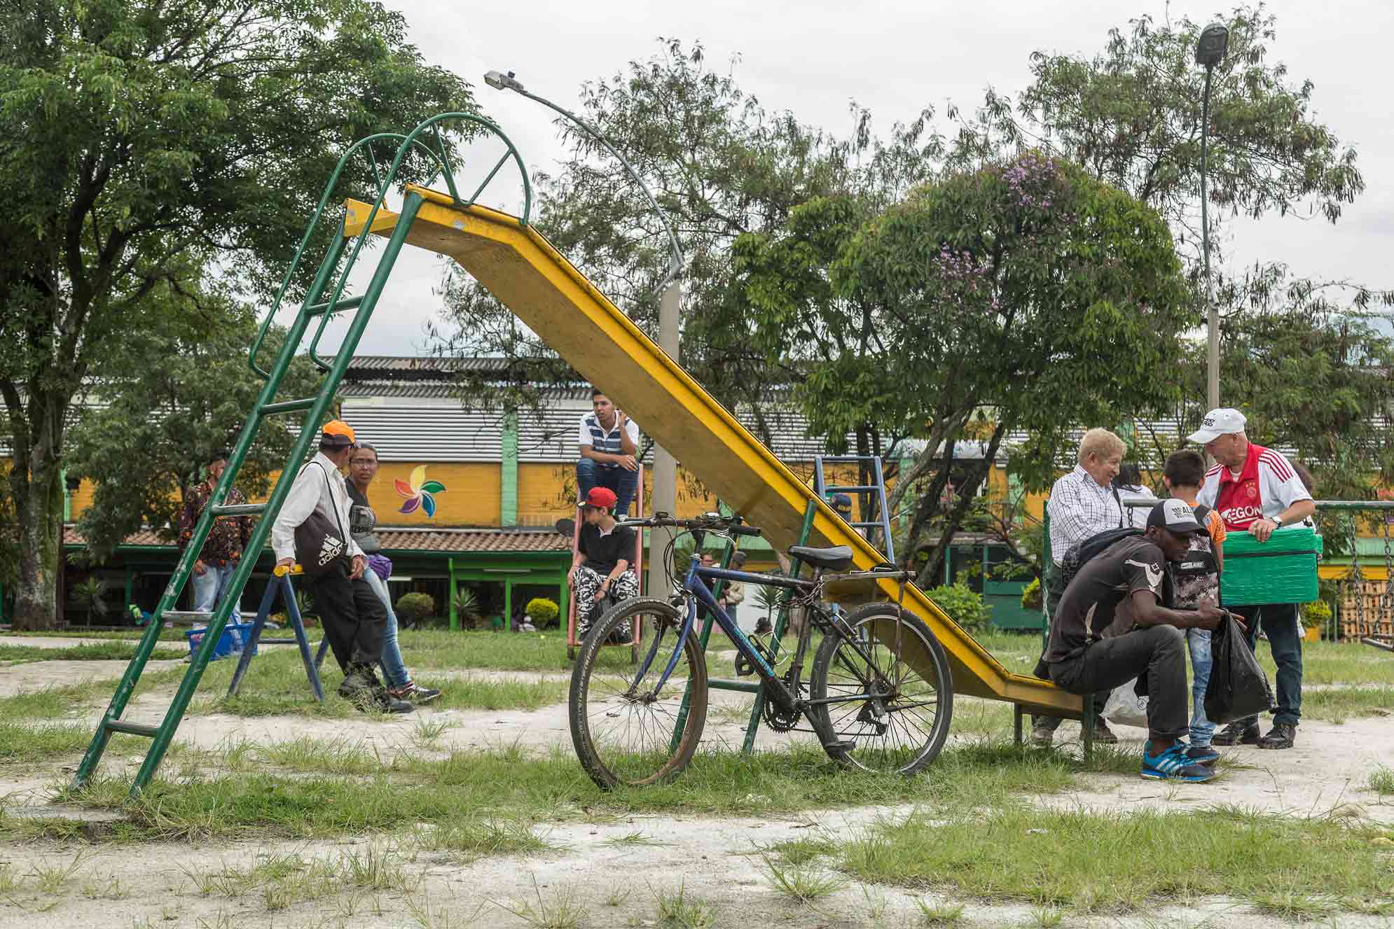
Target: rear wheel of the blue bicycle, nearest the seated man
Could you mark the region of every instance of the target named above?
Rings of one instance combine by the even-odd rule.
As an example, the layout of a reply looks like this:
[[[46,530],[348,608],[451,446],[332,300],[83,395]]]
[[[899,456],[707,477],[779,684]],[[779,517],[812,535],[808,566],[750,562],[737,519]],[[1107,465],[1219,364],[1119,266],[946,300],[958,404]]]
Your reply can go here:
[[[814,728],[831,734],[824,738],[824,748],[834,760],[868,772],[913,774],[938,756],[948,738],[953,678],[944,648],[920,617],[899,610],[896,639],[896,613],[894,604],[867,603],[846,617],[881,670],[880,680],[892,682],[891,692],[884,695],[889,701],[815,703],[809,716],[810,721],[817,717]],[[868,678],[866,660],[848,641],[827,635],[813,660],[809,696],[817,701],[839,692],[867,692]],[[933,719],[927,719],[928,713]]]

